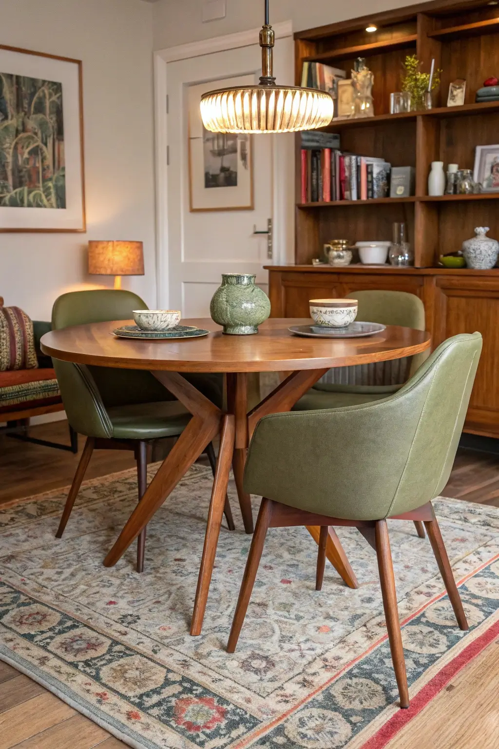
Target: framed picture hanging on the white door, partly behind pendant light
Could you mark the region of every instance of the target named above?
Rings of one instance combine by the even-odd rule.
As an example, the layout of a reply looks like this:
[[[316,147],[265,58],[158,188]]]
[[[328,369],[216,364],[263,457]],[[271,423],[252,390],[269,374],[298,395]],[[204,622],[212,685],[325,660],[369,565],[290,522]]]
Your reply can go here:
[[[201,96],[227,86],[254,85],[237,76],[189,86],[189,207],[199,210],[253,210],[253,143],[248,133],[210,133],[200,115]]]

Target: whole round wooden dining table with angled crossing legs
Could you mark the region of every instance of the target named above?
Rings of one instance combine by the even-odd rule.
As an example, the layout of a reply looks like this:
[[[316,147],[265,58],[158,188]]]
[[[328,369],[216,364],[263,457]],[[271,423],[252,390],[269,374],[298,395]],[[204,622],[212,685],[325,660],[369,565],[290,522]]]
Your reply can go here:
[[[327,340],[299,338],[287,329],[309,320],[272,318],[255,336],[224,336],[206,318],[183,320],[210,331],[199,339],[142,341],[118,339],[112,330],[123,324],[105,322],[54,330],[41,340],[44,354],[76,364],[120,369],[148,369],[192,413],[192,419],[154,476],[141,502],[130,515],[104,564],[112,566],[173,491],[206,445],[220,434],[220,449],[209,503],[191,634],[200,634],[209,583],[224,512],[224,499],[233,466],[246,533],[253,533],[251,502],[242,487],[246,451],[262,416],[291,410],[296,401],[331,367],[367,364],[419,354],[429,348],[429,333],[389,326],[376,336]],[[181,372],[218,372],[227,377],[227,413],[212,404]],[[248,412],[248,372],[290,372],[281,384]],[[319,528],[308,528],[319,539]],[[331,528],[328,559],[347,585],[357,587],[355,574]]]

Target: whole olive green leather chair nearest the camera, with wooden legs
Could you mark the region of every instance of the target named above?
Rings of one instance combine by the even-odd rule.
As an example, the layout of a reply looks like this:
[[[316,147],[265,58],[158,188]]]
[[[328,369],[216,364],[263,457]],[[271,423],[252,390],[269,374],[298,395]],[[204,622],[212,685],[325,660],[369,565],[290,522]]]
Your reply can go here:
[[[321,527],[318,590],[328,526],[358,527],[376,549],[400,706],[408,707],[386,518],[424,522],[459,627],[467,629],[431,500],[449,479],[481,350],[480,333],[454,336],[388,398],[260,419],[248,449],[244,488],[264,499],[228,652],[236,648],[269,527]]]

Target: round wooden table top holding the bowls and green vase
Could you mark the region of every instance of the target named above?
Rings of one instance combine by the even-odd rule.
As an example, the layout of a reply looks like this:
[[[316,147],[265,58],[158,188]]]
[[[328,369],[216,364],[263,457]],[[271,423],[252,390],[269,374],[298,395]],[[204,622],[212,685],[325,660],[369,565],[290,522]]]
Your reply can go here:
[[[369,364],[419,354],[430,345],[422,330],[388,326],[366,338],[327,340],[299,338],[291,325],[307,318],[270,318],[254,336],[224,336],[209,318],[183,320],[209,330],[209,336],[180,340],[120,339],[112,330],[133,321],[77,325],[52,330],[41,339],[44,354],[55,359],[117,367],[171,372],[279,372]]]

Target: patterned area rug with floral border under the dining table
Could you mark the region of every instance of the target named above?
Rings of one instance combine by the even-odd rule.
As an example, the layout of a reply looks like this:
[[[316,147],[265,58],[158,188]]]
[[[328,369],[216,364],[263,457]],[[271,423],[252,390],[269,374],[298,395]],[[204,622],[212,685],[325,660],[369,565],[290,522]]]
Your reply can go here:
[[[269,530],[227,655],[251,540],[230,486],[237,530],[222,528],[203,634],[190,637],[211,482],[195,466],[153,518],[143,574],[135,545],[102,566],[135,506],[133,471],[87,482],[60,541],[65,491],[4,506],[0,658],[136,748],[380,749],[498,636],[499,510],[437,500],[471,628],[456,626],[427,539],[392,522],[409,710],[397,707],[376,554],[355,529],[338,535],[360,588],[327,565],[322,592],[307,531]]]

